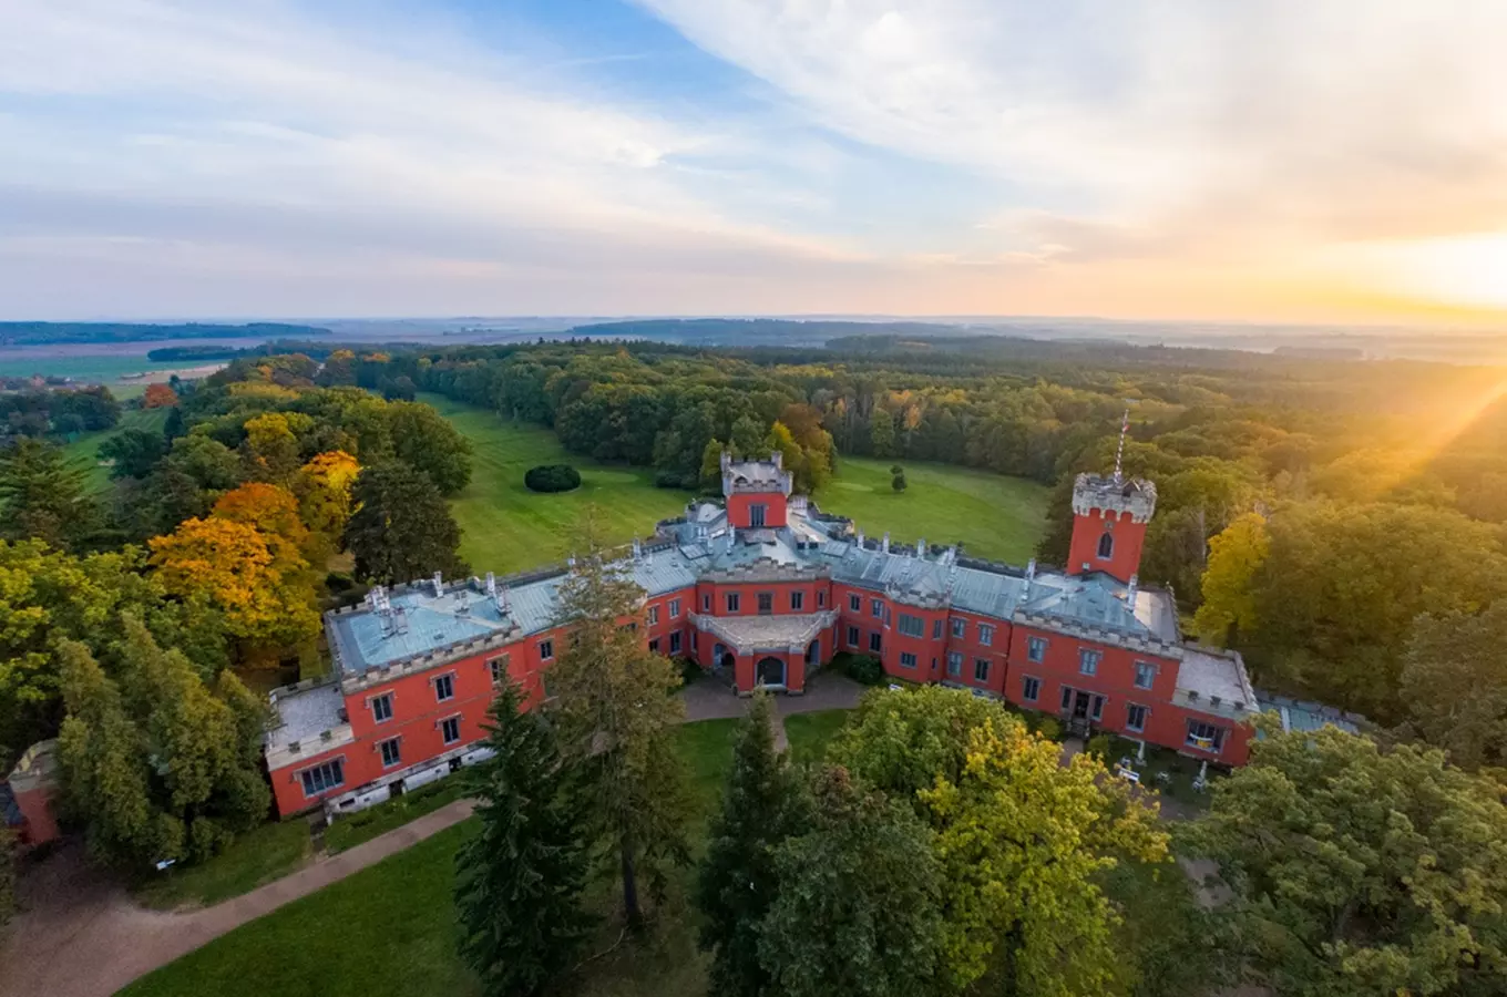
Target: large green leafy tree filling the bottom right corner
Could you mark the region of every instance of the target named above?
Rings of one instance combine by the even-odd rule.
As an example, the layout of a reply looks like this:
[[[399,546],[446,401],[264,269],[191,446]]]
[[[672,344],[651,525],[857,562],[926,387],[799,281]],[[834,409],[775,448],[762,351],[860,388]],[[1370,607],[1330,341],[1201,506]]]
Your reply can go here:
[[[1188,845],[1234,892],[1224,961],[1295,997],[1507,992],[1501,786],[1414,745],[1266,724]]]

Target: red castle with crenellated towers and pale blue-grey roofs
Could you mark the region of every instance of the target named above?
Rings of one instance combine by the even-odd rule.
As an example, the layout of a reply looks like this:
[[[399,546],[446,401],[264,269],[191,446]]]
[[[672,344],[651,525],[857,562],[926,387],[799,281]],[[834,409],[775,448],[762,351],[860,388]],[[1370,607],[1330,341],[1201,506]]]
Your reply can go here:
[[[723,502],[696,502],[634,542],[650,649],[692,658],[740,693],[802,693],[838,652],[885,672],[1056,714],[1219,765],[1246,761],[1258,711],[1240,657],[1183,642],[1171,593],[1138,584],[1156,486],[1079,474],[1065,572],[864,536],[791,495],[769,461],[722,458]],[[549,696],[565,639],[567,566],[374,590],[326,614],[333,676],[273,693],[267,768],[282,815],[437,777],[485,750],[506,675]]]

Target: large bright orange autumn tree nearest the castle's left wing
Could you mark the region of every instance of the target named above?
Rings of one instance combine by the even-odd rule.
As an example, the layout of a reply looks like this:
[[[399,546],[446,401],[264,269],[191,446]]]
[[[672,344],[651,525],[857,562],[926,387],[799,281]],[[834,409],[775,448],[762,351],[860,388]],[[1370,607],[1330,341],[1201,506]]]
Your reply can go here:
[[[289,556],[291,545],[274,556],[268,535],[250,523],[184,520],[149,545],[163,587],[205,598],[252,654],[303,646],[319,633],[307,562],[297,551]]]

